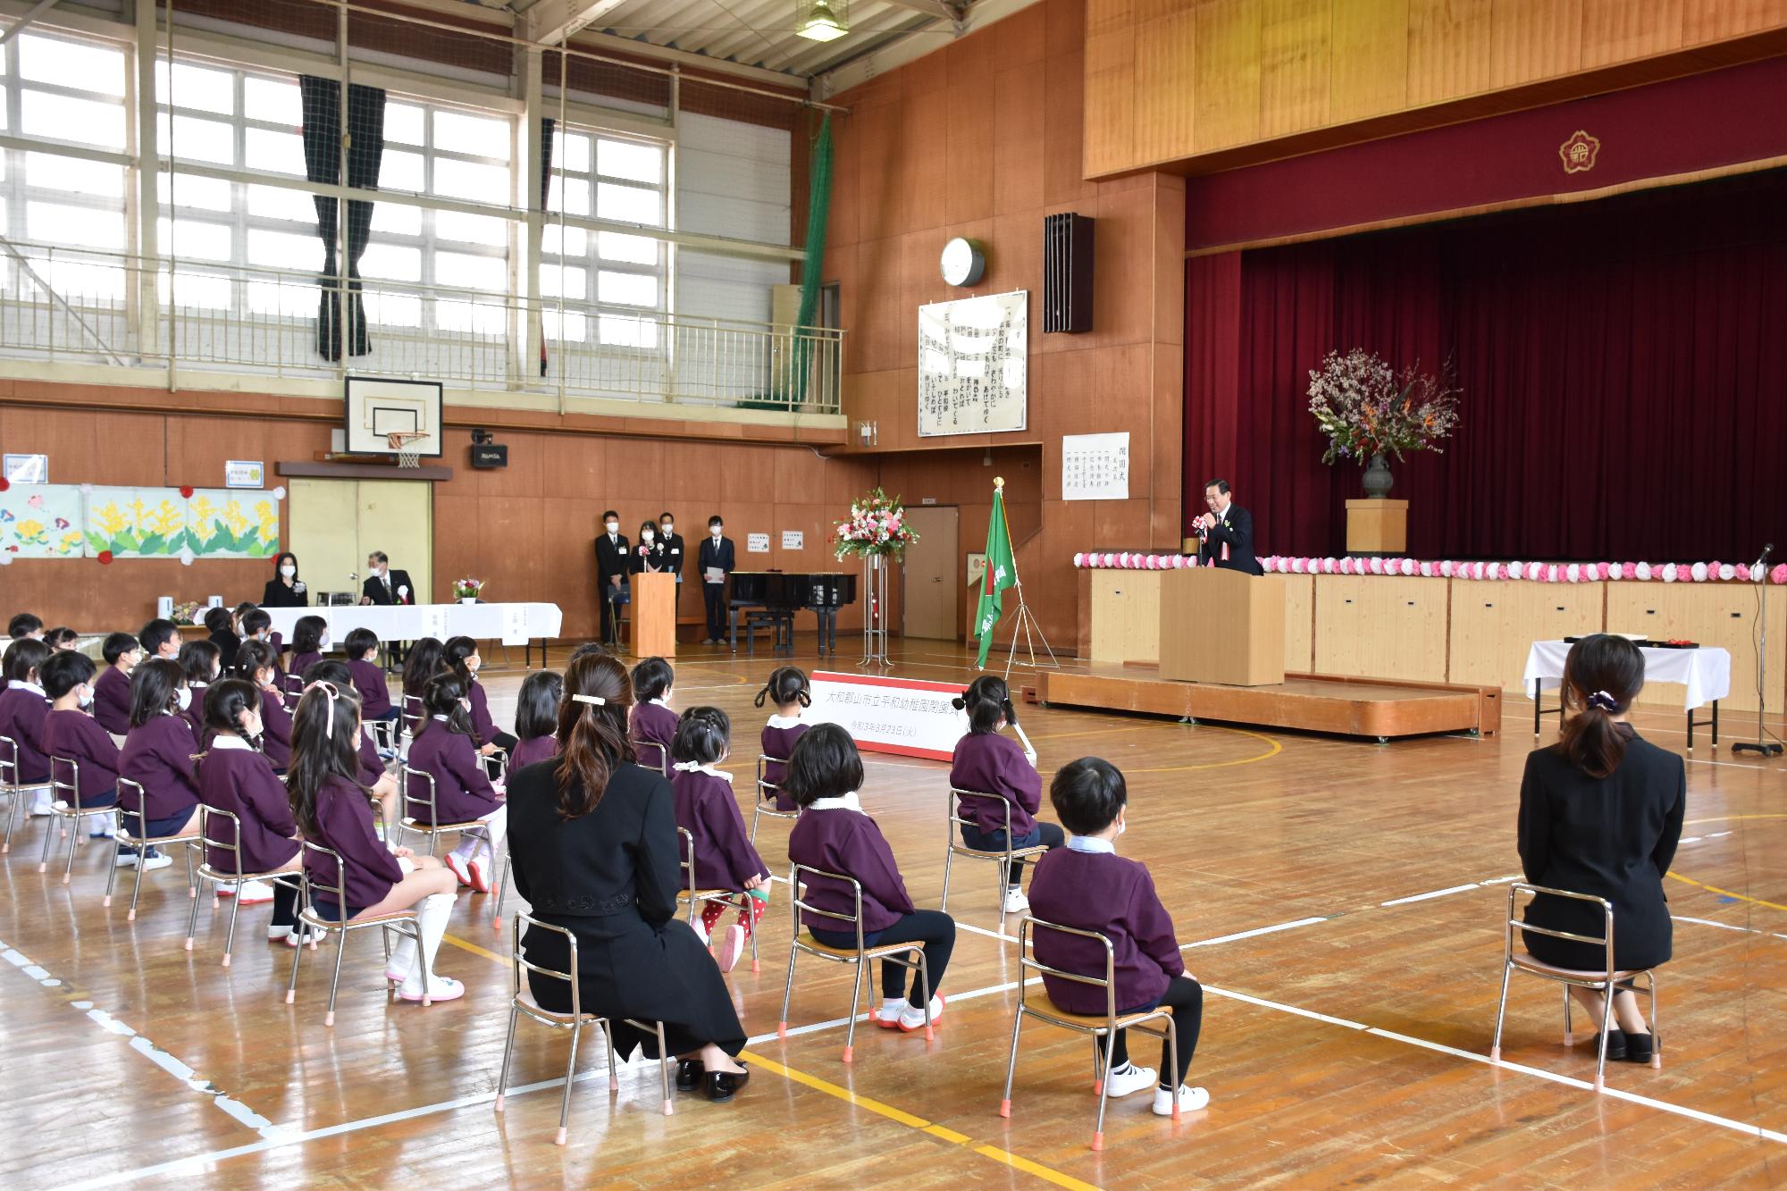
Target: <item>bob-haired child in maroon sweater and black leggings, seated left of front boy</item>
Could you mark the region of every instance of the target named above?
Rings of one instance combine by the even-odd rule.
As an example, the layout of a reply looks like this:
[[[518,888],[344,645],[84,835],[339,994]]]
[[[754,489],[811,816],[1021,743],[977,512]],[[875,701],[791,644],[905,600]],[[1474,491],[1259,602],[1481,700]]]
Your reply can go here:
[[[788,758],[788,794],[801,808],[788,833],[788,858],[826,873],[854,878],[863,887],[863,944],[924,942],[926,975],[931,980],[931,1021],[944,1016],[938,989],[956,946],[956,919],[942,910],[920,910],[906,892],[894,849],[876,821],[863,812],[856,792],[863,787],[863,758],[856,742],[838,724],[817,724],[801,737]],[[854,914],[851,887],[824,876],[806,878],[808,905],[833,914]],[[854,948],[856,932],[842,921],[808,914],[806,928],[829,948]],[[915,976],[917,978],[917,976]],[[920,994],[922,998],[922,994]],[[922,1030],[924,1005],[906,996],[906,969],[881,962],[881,1012],[876,1023],[888,1030]]]

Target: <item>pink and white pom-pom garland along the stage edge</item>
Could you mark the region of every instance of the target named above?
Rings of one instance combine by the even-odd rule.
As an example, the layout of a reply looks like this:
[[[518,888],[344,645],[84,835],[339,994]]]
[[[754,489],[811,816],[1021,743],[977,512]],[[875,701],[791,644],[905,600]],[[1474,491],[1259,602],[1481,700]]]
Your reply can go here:
[[[1083,551],[1074,554],[1079,569],[1113,567],[1119,570],[1183,570],[1197,560],[1185,554],[1142,554]],[[1758,583],[1762,567],[1742,563],[1523,563],[1523,562],[1415,562],[1414,558],[1288,558],[1271,554],[1260,560],[1267,574],[1390,574],[1433,579],[1526,579],[1531,583]],[[1769,583],[1787,583],[1787,563],[1767,572]]]

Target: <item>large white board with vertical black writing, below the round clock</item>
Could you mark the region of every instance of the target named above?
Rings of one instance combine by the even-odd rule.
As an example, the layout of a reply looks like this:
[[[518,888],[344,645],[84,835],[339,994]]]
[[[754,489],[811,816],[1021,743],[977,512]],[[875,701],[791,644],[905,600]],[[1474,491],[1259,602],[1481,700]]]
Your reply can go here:
[[[919,308],[919,435],[1024,429],[1029,293]]]

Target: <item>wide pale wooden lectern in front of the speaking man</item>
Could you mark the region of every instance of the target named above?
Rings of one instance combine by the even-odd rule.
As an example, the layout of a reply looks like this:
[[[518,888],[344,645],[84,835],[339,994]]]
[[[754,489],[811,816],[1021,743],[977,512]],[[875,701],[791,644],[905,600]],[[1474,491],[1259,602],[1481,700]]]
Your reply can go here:
[[[1228,687],[1285,681],[1285,585],[1222,567],[1162,574],[1160,676]]]

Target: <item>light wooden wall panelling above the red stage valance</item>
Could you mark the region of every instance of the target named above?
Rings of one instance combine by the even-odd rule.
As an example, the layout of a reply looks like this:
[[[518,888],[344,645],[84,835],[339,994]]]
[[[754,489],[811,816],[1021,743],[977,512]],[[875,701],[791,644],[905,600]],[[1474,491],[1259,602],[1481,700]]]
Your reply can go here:
[[[1787,0],[1090,0],[1081,161],[1233,168],[1749,61],[1783,29]]]

